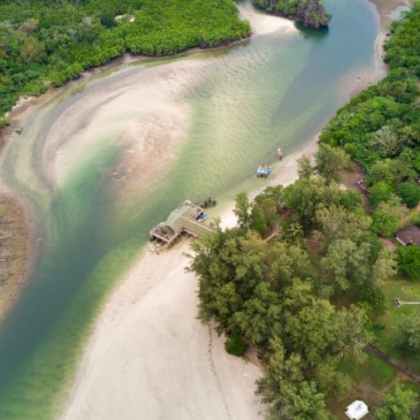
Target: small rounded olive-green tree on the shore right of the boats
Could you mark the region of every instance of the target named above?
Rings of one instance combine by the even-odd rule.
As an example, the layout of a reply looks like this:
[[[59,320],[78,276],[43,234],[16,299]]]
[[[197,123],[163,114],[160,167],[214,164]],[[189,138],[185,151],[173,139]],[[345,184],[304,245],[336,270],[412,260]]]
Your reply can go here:
[[[341,149],[332,149],[325,143],[319,145],[315,154],[315,168],[325,178],[327,185],[340,182],[340,169],[348,164],[349,158]]]

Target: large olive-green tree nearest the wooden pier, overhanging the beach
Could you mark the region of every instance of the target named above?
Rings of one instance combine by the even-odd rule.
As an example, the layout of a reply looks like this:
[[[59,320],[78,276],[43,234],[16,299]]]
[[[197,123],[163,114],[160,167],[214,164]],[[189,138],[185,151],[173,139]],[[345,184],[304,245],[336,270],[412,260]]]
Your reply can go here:
[[[215,319],[218,331],[232,329],[232,317],[264,279],[263,240],[252,231],[232,229],[206,236],[192,246],[188,270],[199,276],[202,322]]]

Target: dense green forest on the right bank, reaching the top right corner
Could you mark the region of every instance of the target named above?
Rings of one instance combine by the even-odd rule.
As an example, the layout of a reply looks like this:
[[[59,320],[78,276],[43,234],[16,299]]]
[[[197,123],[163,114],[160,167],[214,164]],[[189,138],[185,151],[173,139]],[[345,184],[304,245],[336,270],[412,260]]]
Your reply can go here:
[[[378,85],[357,95],[323,130],[320,141],[340,146],[368,172],[374,205],[398,193],[414,207],[420,198],[420,3],[393,23],[386,41],[390,71]],[[401,185],[401,187],[399,187]]]

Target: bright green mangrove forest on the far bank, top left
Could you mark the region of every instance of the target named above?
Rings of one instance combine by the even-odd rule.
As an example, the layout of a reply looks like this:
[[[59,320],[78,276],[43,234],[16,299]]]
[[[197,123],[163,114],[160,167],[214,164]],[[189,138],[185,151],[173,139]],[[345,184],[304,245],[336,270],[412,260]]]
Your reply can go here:
[[[116,20],[118,15],[123,18]],[[19,95],[61,86],[126,50],[160,56],[213,47],[249,32],[232,0],[4,0],[0,116]]]

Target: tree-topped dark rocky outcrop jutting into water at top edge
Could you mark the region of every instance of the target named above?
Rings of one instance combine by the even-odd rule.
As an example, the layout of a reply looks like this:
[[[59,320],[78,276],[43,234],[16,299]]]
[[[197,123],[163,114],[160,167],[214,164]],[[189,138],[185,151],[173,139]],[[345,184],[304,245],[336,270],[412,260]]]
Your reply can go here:
[[[305,27],[327,27],[331,14],[325,11],[323,0],[253,0],[266,11],[302,22]]]

